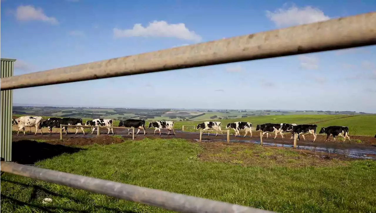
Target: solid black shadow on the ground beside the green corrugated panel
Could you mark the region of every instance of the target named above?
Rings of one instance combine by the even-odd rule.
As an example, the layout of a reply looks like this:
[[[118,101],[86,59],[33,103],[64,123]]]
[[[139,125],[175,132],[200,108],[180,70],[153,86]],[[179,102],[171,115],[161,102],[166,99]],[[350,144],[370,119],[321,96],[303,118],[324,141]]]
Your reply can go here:
[[[37,161],[53,158],[63,153],[73,154],[85,150],[59,144],[19,140],[12,142],[12,161],[19,164],[34,164]]]

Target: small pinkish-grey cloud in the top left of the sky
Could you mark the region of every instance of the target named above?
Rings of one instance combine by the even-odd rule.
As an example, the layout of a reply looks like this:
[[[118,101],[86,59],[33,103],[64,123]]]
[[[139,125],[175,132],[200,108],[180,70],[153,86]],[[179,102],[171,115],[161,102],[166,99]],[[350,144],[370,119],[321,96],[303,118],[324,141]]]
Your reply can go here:
[[[35,8],[32,5],[18,6],[15,15],[18,21],[43,21],[51,24],[59,23],[55,17],[45,15],[42,8]]]

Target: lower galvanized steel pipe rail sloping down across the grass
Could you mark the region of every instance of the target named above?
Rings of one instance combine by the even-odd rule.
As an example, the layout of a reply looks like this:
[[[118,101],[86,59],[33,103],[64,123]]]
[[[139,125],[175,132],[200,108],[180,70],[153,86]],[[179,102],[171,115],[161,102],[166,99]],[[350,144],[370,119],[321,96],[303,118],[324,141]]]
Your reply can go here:
[[[272,213],[272,211],[258,208],[212,201],[17,163],[2,161],[0,162],[0,171],[184,213]]]

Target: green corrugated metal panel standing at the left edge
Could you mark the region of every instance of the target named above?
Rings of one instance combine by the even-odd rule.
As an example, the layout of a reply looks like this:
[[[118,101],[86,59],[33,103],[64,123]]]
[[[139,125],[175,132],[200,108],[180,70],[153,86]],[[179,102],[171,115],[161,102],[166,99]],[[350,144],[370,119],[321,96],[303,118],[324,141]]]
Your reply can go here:
[[[0,58],[0,78],[13,76],[15,59]],[[12,161],[13,90],[1,91],[0,85],[0,158]]]

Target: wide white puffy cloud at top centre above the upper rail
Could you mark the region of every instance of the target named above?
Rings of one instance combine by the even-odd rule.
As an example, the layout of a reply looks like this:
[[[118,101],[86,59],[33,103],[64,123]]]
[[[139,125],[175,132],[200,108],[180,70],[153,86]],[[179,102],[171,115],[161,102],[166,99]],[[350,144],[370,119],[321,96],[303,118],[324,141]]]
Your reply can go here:
[[[199,42],[202,38],[194,31],[190,31],[185,24],[168,24],[166,21],[153,21],[149,26],[143,27],[141,24],[135,24],[133,29],[121,30],[113,29],[114,37],[174,37],[182,40]]]

